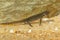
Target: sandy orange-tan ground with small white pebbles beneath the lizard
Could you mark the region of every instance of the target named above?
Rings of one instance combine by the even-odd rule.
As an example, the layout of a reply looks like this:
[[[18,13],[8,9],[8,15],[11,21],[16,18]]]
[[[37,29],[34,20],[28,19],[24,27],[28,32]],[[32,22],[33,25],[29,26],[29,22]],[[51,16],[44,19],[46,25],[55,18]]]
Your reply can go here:
[[[0,25],[0,40],[60,40],[60,15],[44,20],[33,27],[20,23]]]

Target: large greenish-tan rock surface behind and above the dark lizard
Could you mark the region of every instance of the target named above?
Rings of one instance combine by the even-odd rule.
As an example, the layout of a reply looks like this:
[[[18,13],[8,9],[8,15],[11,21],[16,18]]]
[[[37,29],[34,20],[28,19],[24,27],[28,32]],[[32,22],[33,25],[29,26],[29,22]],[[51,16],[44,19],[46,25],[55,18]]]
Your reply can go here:
[[[21,21],[46,10],[54,14],[56,9],[52,5],[50,0],[0,0],[0,23]]]

